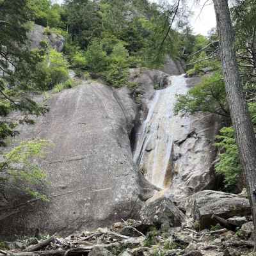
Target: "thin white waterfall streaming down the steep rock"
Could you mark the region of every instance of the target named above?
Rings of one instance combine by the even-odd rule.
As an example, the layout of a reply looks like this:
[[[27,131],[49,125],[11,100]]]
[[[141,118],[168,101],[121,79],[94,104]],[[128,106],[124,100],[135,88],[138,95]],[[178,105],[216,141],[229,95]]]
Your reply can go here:
[[[146,179],[159,188],[170,186],[172,179],[173,138],[179,133],[173,113],[175,95],[186,92],[184,74],[168,77],[168,87],[155,92],[147,118],[137,134],[134,163],[145,172]]]

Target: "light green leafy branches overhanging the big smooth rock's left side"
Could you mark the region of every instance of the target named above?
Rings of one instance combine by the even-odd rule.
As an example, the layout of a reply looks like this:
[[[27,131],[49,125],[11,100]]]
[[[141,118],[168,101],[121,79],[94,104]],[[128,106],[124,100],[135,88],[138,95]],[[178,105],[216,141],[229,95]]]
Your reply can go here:
[[[26,195],[47,200],[47,197],[38,191],[45,181],[45,173],[33,160],[44,157],[44,148],[49,146],[45,140],[22,141],[19,146],[3,154],[0,163],[1,189],[12,186]]]

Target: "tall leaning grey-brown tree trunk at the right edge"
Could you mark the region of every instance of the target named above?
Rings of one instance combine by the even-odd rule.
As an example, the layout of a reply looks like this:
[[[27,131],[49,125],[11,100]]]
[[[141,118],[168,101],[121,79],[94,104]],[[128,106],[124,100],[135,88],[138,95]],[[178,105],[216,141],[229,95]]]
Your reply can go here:
[[[221,62],[227,100],[232,123],[236,131],[236,141],[252,207],[253,223],[254,227],[256,227],[256,139],[237,67],[235,36],[228,2],[227,0],[213,0],[213,2],[220,35]]]

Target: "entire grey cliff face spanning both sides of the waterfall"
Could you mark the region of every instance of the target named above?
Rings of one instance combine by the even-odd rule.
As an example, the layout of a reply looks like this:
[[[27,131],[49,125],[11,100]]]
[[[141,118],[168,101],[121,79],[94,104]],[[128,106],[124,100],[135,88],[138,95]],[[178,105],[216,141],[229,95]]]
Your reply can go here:
[[[51,200],[28,202],[28,198],[8,191],[0,209],[0,237],[38,232],[70,234],[102,227],[121,219],[139,218],[141,207],[147,206],[146,200],[159,190],[164,189],[161,195],[164,192],[168,200],[177,201],[209,188],[214,181],[211,164],[215,152],[211,143],[218,121],[212,116],[166,116],[175,92],[165,93],[173,86],[169,83],[173,77],[164,72],[131,70],[131,80],[139,84],[136,95],[140,108],[127,88],[115,90],[81,81],[76,88],[53,95],[48,102],[49,113],[38,118],[35,125],[20,127],[20,136],[13,143],[45,138],[54,145],[40,162],[48,177],[44,192]],[[186,86],[195,84],[189,81]],[[156,86],[167,88],[156,92]],[[159,93],[161,100],[150,110]],[[150,139],[152,125],[148,132],[140,132],[147,119],[156,124],[153,126],[158,131]],[[173,129],[164,129],[163,124],[171,124],[170,120]],[[134,156],[143,136],[150,143],[140,150],[141,175],[141,164],[134,161]],[[156,151],[156,145],[163,150]],[[166,148],[171,148],[168,154]],[[164,175],[154,173],[155,159],[162,162],[159,166],[166,166]],[[163,186],[152,182],[152,175],[163,179]]]

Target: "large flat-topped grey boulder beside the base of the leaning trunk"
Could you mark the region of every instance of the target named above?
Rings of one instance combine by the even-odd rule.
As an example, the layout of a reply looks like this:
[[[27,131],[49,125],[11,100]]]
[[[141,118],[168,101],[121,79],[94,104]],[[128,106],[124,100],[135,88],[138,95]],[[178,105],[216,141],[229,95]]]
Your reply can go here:
[[[248,199],[220,191],[204,190],[186,200],[186,215],[200,223],[200,228],[209,228],[217,223],[212,214],[227,219],[232,216],[247,216],[251,212]]]

